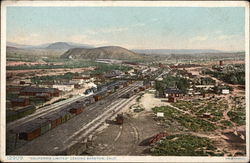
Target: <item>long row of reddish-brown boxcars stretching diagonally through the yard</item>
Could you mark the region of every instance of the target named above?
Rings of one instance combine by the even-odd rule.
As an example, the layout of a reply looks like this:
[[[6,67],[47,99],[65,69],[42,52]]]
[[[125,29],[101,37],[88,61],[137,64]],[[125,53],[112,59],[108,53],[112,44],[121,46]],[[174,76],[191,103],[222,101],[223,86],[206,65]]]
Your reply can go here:
[[[115,92],[118,88],[128,86],[130,83],[132,83],[132,81],[116,81],[110,83],[109,85],[105,85],[99,88],[93,95],[88,96],[81,101],[76,101],[66,107],[62,107],[51,114],[38,117],[21,126],[17,126],[12,129],[11,132],[16,134],[16,137],[19,139],[28,141],[33,140],[58,125],[68,121],[72,117],[82,113],[86,106],[105,98],[109,94]]]

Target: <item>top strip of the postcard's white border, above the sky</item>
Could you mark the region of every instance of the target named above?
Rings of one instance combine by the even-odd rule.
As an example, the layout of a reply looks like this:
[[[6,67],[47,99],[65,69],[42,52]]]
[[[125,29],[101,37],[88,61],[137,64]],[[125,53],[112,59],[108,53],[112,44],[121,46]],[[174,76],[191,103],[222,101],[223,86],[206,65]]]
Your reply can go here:
[[[5,6],[246,7],[247,1],[4,1]]]

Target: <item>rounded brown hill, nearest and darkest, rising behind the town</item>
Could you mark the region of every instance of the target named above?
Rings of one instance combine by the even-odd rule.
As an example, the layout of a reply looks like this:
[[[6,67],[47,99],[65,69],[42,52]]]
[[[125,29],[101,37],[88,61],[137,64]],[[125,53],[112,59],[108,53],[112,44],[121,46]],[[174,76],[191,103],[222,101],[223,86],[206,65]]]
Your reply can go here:
[[[82,59],[139,59],[141,55],[119,46],[105,46],[99,48],[74,48],[69,49],[61,58]]]

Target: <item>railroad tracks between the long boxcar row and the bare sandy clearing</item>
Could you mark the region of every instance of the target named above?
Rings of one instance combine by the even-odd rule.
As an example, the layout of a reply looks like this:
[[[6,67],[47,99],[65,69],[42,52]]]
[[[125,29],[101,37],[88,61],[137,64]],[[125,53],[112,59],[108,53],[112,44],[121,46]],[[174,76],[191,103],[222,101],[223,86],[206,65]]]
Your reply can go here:
[[[96,103],[85,108],[85,111],[80,115],[75,116],[70,119],[66,123],[58,126],[57,128],[45,133],[39,138],[25,143],[17,149],[10,151],[13,154],[17,153],[26,153],[26,154],[37,154],[37,150],[30,150],[33,148],[39,148],[43,154],[58,154],[63,151],[67,151],[69,147],[74,145],[75,143],[82,142],[84,138],[87,138],[90,134],[93,134],[97,128],[102,125],[106,119],[110,116],[113,116],[119,111],[123,106],[125,106],[126,101],[131,101],[130,99],[119,98],[122,94],[133,90],[137,87],[141,86],[139,83],[133,83],[128,87],[124,87],[119,89],[118,92],[111,94],[110,96],[104,98],[103,100],[97,101]],[[112,108],[111,108],[112,107]],[[110,110],[109,110],[110,109]],[[108,110],[108,111],[107,111]],[[106,112],[107,111],[107,112]],[[103,115],[103,113],[105,113]],[[98,119],[95,119],[98,117]],[[93,121],[95,119],[95,121]],[[90,123],[90,124],[89,124]],[[89,125],[88,125],[89,124]],[[77,127],[76,127],[77,126]],[[87,126],[87,127],[84,127]],[[67,130],[66,133],[63,133],[64,128]],[[60,139],[60,143],[58,141],[52,141],[50,138],[54,139],[54,135],[57,135],[58,130],[58,138]],[[50,139],[51,144],[37,146],[39,142],[46,142],[46,139]],[[55,143],[53,143],[55,142]],[[58,150],[55,150],[55,147],[60,147]]]

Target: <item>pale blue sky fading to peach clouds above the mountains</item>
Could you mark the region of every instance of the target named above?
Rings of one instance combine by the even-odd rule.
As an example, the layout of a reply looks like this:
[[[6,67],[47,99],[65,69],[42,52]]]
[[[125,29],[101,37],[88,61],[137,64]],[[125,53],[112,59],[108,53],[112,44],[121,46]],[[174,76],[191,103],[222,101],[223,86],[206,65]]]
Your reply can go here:
[[[7,7],[7,41],[244,50],[244,7]]]

